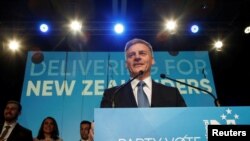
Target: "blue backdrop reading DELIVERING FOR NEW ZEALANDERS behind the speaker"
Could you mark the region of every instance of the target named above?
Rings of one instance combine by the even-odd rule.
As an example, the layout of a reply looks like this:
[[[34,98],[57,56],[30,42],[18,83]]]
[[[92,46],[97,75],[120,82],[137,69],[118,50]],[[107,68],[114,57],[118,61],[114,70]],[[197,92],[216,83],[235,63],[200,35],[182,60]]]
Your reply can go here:
[[[177,87],[189,107],[214,106],[214,100],[160,74],[216,95],[208,52],[154,52],[152,78]],[[123,52],[29,52],[23,82],[20,121],[36,136],[42,120],[54,117],[64,141],[78,140],[81,120],[94,119],[104,89],[128,81]]]

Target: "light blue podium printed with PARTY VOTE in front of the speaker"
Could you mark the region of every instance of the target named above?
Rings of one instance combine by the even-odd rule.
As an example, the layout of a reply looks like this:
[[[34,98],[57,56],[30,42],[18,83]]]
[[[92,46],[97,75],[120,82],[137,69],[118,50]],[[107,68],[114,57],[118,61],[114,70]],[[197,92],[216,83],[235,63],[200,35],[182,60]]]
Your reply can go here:
[[[208,125],[249,125],[249,115],[248,106],[98,108],[95,141],[206,141]]]

